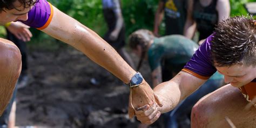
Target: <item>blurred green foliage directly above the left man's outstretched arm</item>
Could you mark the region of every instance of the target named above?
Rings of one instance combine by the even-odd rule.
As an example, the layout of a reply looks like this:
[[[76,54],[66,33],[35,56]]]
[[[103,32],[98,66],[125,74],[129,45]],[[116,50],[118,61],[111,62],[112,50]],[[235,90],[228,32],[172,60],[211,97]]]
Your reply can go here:
[[[49,2],[99,35],[103,35],[106,31],[101,0],[49,0]]]

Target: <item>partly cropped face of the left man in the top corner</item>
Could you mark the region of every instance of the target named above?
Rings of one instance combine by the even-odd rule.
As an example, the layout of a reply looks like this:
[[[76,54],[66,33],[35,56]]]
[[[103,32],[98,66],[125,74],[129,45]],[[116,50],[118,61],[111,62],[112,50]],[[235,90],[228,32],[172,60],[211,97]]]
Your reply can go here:
[[[28,12],[30,8],[24,8],[24,5],[21,5],[21,3],[18,1],[14,2],[14,5],[17,9],[4,9],[4,11],[0,12],[0,25],[4,25],[8,22],[14,22],[18,20],[28,20]]]

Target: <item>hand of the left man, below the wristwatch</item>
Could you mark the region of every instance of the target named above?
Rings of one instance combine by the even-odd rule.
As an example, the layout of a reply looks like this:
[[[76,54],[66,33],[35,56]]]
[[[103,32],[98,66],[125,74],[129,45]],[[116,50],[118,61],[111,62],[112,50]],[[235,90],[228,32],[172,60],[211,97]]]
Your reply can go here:
[[[163,106],[163,104],[159,101],[159,98],[154,95],[153,90],[143,80],[142,84],[133,87],[130,91],[129,96],[129,117],[132,118],[135,114],[135,110],[144,105],[149,105],[151,107],[153,104],[157,104],[157,106]]]

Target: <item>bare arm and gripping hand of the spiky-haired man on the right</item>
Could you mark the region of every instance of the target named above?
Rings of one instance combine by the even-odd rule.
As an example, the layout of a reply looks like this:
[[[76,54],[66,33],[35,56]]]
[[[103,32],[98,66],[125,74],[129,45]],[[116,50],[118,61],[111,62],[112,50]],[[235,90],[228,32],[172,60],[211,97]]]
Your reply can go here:
[[[190,73],[180,71],[178,75],[168,82],[161,83],[154,88],[154,93],[163,102],[159,110],[154,107],[139,108],[136,111],[137,119],[145,124],[152,124],[158,119],[158,111],[161,113],[171,111],[179,102],[196,91],[206,80],[194,77]]]

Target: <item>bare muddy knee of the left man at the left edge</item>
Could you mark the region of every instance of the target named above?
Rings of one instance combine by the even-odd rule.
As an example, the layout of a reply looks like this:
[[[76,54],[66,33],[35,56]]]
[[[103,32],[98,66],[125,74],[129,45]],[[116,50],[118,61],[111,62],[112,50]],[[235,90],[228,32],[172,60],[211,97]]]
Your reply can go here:
[[[8,105],[21,73],[21,52],[17,46],[0,38],[0,115]]]

